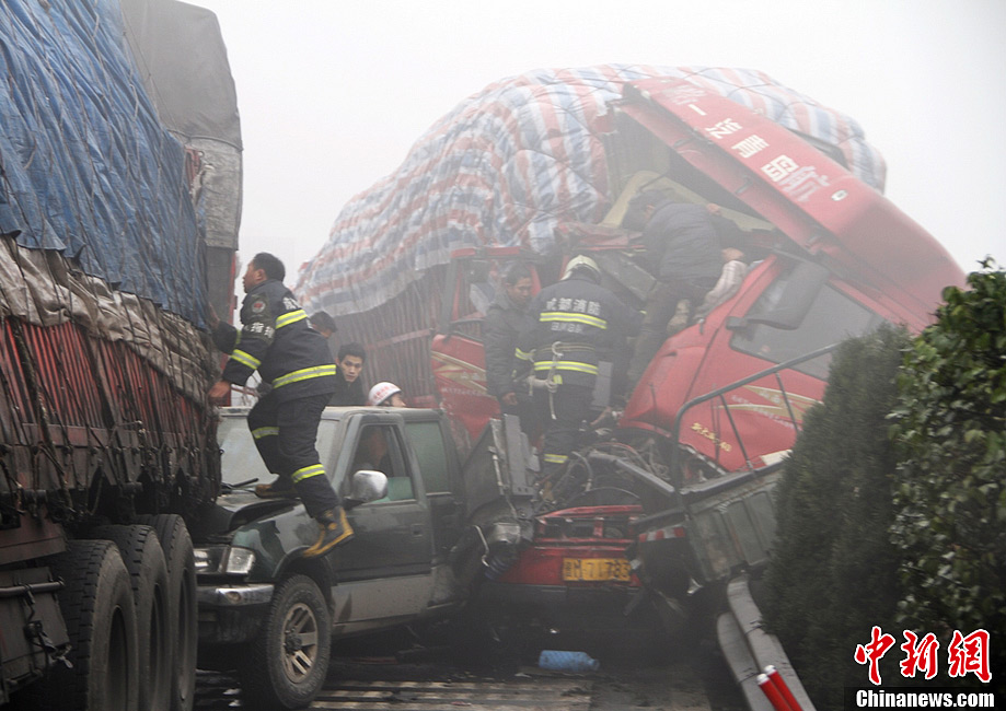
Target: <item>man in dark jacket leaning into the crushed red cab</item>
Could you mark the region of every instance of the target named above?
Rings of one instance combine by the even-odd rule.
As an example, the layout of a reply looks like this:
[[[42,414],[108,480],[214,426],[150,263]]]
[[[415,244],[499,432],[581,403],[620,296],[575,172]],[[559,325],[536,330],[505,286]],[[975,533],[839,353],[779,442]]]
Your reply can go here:
[[[646,318],[633,352],[628,380],[635,383],[667,340],[667,326],[678,302],[701,303],[722,271],[720,231],[729,222],[716,214],[717,206],[673,202],[663,194],[648,191],[633,199],[632,210],[645,219],[643,243],[646,260],[657,278],[646,299]]]

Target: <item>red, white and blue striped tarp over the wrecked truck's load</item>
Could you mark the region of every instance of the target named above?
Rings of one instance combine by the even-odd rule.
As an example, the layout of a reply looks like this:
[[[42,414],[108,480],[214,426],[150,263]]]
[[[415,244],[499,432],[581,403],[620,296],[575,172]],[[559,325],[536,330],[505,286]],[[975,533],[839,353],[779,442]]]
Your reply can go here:
[[[602,136],[626,82],[683,78],[836,145],[882,189],[884,167],[847,116],[756,71],[605,65],[539,70],[470,96],[419,138],[401,167],[349,201],[301,272],[309,311],[366,312],[472,246],[547,254],[565,221],[597,222],[613,199]],[[428,324],[409,324],[416,329]],[[391,335],[391,334],[389,334]]]

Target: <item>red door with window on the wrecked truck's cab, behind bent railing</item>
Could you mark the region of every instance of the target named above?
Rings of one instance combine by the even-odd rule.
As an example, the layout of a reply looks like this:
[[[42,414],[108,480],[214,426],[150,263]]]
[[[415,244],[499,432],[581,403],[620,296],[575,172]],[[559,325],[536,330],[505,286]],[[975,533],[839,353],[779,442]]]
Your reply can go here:
[[[709,315],[704,328],[713,337],[704,349],[679,348],[669,358],[659,375],[667,383],[685,380],[689,388],[662,421],[673,422],[687,400],[876,328],[883,320],[878,312],[878,304],[818,265],[771,257],[736,301]],[[674,339],[669,346],[671,352]],[[822,356],[684,410],[681,444],[727,471],[773,464],[821,399],[829,364],[830,356]]]

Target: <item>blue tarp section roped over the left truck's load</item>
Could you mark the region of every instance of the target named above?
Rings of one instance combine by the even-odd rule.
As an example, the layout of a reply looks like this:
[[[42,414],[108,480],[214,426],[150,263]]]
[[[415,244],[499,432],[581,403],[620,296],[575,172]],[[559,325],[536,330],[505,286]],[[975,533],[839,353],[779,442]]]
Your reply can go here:
[[[113,0],[0,4],[0,233],[198,324],[204,268],[185,152],[124,33]]]

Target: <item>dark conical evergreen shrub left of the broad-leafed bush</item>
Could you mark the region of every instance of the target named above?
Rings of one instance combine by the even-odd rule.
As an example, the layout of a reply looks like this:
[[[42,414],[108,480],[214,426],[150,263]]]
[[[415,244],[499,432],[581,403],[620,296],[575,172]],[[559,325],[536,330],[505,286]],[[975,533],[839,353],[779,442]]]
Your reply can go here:
[[[901,598],[886,420],[910,342],[888,327],[842,343],[777,490],[764,613],[819,708],[841,709],[843,687],[867,683],[853,652],[872,625],[893,625]],[[898,674],[894,656],[883,657],[884,683]]]

